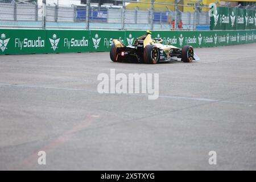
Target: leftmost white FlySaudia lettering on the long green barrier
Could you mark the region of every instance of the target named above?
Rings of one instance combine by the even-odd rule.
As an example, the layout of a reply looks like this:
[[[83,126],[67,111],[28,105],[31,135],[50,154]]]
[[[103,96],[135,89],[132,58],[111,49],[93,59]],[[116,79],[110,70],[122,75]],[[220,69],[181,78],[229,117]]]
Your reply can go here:
[[[15,39],[15,47],[20,48],[38,48],[38,47],[44,47],[44,40],[41,39],[39,36],[38,39],[32,40],[28,38],[24,38],[23,40],[20,40],[19,38]]]

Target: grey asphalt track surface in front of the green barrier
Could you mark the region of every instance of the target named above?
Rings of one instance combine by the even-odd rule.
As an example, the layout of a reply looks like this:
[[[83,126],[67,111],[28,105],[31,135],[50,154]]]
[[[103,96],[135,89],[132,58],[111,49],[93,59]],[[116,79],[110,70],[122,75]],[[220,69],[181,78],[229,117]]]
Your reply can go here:
[[[198,48],[200,61],[156,65],[108,52],[0,56],[0,169],[255,170],[255,50]],[[99,94],[110,68],[159,73],[159,98]]]

